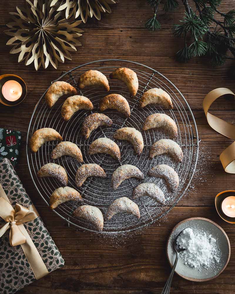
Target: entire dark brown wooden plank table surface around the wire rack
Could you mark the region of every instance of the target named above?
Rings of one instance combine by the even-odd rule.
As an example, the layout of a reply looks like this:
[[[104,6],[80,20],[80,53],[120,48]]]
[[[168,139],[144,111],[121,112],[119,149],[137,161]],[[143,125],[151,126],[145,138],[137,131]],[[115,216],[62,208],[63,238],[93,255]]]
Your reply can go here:
[[[216,279],[204,283],[189,282],[175,275],[172,294],[232,294],[235,293],[235,226],[219,218],[214,207],[214,197],[223,190],[234,189],[235,176],[225,173],[219,154],[232,141],[210,128],[202,110],[204,96],[214,88],[227,87],[235,91],[234,81],[228,71],[227,61],[222,67],[212,68],[205,58],[194,58],[187,64],[175,60],[175,53],[182,48],[183,40],[175,39],[172,24],[182,19],[184,8],[174,14],[159,9],[162,30],[148,32],[144,28],[152,16],[147,1],[121,0],[112,6],[112,14],[103,14],[101,21],[89,19],[83,24],[85,32],[80,37],[81,47],[72,54],[72,60],[59,64],[58,70],[36,71],[33,65],[18,64],[18,54],[9,54],[8,36],[1,34],[0,74],[17,74],[27,84],[28,96],[13,108],[0,106],[0,127],[22,132],[21,158],[16,171],[36,205],[52,238],[65,258],[65,266],[45,278],[20,290],[36,294],[155,294],[161,293],[170,273],[165,254],[167,237],[178,222],[190,217],[206,217],[226,231],[231,243],[231,259],[224,272]],[[223,1],[221,11],[234,8],[232,0]],[[11,19],[9,12],[24,0],[1,1],[1,31]],[[49,86],[50,81],[80,64],[106,58],[127,59],[146,64],[167,76],[187,99],[196,119],[200,143],[199,163],[194,188],[159,222],[129,237],[125,242],[101,238],[88,232],[68,228],[63,220],[45,206],[33,186],[28,173],[25,140],[28,123],[36,102]],[[211,113],[234,122],[234,99],[221,98],[211,107]],[[201,179],[200,179],[201,175]]]

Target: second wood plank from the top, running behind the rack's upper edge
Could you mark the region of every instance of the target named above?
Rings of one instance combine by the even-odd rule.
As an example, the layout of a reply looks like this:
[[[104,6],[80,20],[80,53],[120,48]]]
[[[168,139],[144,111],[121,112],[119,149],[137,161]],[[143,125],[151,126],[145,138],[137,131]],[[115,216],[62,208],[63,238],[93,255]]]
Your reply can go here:
[[[152,34],[143,29],[88,29],[80,38],[83,46],[72,54],[72,61],[66,60],[64,65],[60,64],[57,71],[52,66],[47,70],[40,68],[35,71],[33,64],[18,64],[18,54],[9,54],[10,46],[4,45],[7,39],[3,35],[0,40],[0,46],[4,48],[2,59],[8,64],[7,68],[1,64],[1,72],[19,74],[28,86],[28,96],[14,108],[16,111],[27,109],[27,113],[31,113],[50,82],[58,78],[62,70],[68,71],[83,63],[107,58],[137,61],[158,70],[179,88],[192,109],[202,109],[205,95],[214,88],[226,87],[235,91],[234,83],[228,76],[232,61],[226,61],[225,66],[219,68],[212,68],[206,58],[193,58],[187,64],[179,63],[175,60],[175,54],[182,47],[182,40],[172,37],[170,30]],[[151,44],[148,44],[150,40]],[[99,47],[102,50],[94,55],[94,50],[97,51]],[[10,108],[3,109],[6,115],[11,113]],[[234,110],[235,101],[220,99],[213,103],[212,109]]]

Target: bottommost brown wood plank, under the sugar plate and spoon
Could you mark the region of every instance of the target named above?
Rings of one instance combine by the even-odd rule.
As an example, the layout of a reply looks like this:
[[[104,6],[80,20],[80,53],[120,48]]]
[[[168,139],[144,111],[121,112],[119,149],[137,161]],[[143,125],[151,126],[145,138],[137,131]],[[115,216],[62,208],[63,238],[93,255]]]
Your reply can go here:
[[[121,239],[66,228],[47,208],[38,210],[66,263],[18,294],[41,294],[48,290],[51,294],[160,294],[170,273],[165,254],[167,237],[174,225],[189,217],[212,219],[228,234],[231,248],[235,245],[235,227],[225,223],[214,209],[208,207],[176,207],[160,222]],[[192,283],[175,275],[171,293],[232,294],[235,290],[233,268],[234,256],[231,255],[227,268],[214,280]]]

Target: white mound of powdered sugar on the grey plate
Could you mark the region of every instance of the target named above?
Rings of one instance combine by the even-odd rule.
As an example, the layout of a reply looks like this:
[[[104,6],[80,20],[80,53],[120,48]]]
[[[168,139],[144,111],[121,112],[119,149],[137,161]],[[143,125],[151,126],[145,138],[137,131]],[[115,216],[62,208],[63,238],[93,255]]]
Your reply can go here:
[[[212,235],[199,230],[186,228],[177,238],[179,248],[186,248],[180,253],[185,265],[200,270],[210,268],[219,263],[219,250],[216,246],[216,239]]]

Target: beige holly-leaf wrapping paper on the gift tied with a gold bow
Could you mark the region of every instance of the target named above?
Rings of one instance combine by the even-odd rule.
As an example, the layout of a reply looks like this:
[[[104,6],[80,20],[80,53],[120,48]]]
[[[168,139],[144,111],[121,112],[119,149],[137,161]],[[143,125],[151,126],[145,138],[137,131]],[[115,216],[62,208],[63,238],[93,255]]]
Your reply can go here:
[[[8,158],[0,159],[0,183],[13,207],[16,203],[25,207],[33,204]],[[1,224],[4,224],[4,220],[0,218]],[[61,268],[64,265],[63,257],[40,216],[24,223],[24,226],[48,272]],[[13,294],[35,280],[21,245],[10,246],[7,230],[0,238],[0,293]]]

